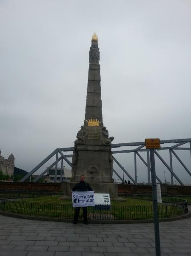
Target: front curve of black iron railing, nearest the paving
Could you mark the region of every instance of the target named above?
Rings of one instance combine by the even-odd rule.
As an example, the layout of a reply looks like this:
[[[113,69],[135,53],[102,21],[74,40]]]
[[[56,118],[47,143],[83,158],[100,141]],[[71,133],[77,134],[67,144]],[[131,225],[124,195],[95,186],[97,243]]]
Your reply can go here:
[[[152,205],[114,205],[110,209],[94,209],[88,207],[89,219],[151,219],[153,218]],[[184,215],[188,212],[187,202],[159,204],[159,218],[170,218]],[[49,204],[18,200],[1,200],[0,211],[19,215],[39,217],[67,218],[74,217],[75,209],[71,204]],[[82,215],[80,215],[82,218]]]

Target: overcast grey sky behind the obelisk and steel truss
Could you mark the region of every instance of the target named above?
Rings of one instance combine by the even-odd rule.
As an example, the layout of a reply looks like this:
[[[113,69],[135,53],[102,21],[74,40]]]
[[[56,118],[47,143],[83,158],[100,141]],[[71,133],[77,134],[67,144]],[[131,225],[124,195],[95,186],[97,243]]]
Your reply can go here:
[[[0,0],[0,148],[18,168],[74,146],[94,31],[113,143],[191,137],[190,0]],[[189,151],[177,153],[191,170]],[[116,158],[133,175],[133,154]],[[147,181],[145,166],[137,168]],[[191,183],[175,160],[174,168]],[[157,162],[162,180],[164,171]]]

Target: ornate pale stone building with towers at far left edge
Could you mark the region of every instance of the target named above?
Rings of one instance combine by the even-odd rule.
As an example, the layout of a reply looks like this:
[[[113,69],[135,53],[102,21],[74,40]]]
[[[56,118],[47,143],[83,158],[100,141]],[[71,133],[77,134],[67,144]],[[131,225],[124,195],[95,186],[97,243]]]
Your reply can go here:
[[[5,175],[13,176],[14,172],[14,155],[10,154],[8,159],[1,156],[0,150],[0,171]]]

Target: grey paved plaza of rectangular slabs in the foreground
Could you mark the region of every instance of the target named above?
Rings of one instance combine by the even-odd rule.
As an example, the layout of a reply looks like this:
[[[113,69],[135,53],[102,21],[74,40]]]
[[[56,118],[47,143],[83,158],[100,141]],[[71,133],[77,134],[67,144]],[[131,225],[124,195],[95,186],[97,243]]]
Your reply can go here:
[[[191,218],[160,223],[163,256],[191,256]],[[77,224],[0,215],[0,256],[154,256],[153,224]]]

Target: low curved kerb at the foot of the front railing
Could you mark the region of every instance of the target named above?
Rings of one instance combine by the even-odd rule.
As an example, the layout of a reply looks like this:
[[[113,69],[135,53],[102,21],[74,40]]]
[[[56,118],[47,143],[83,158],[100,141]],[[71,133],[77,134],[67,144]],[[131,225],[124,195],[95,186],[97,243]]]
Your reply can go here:
[[[23,218],[29,220],[37,220],[37,221],[55,221],[55,222],[72,222],[73,219],[66,219],[66,218],[48,218],[48,217],[38,217],[38,216],[29,216],[29,215],[19,215],[9,212],[2,212],[0,211],[0,215],[13,217],[13,218]],[[188,213],[184,215],[180,215],[177,217],[171,218],[161,218],[159,222],[166,222],[166,221],[177,221],[191,217],[191,206],[188,206]],[[83,223],[83,219],[78,220],[79,223]],[[142,219],[142,220],[88,220],[89,223],[92,224],[140,224],[140,223],[153,223],[153,219]]]

